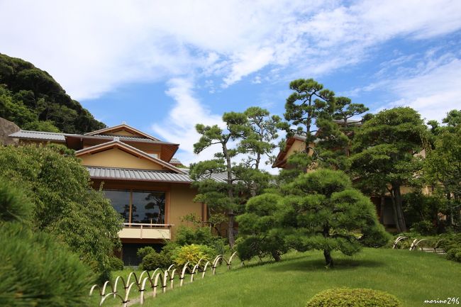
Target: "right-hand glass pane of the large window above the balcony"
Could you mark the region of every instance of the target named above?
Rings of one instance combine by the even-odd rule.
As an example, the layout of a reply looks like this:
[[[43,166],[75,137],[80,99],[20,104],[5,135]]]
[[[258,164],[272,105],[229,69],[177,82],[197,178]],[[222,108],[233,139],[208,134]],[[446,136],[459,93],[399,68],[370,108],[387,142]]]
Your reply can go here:
[[[165,223],[165,193],[133,191],[131,223]]]

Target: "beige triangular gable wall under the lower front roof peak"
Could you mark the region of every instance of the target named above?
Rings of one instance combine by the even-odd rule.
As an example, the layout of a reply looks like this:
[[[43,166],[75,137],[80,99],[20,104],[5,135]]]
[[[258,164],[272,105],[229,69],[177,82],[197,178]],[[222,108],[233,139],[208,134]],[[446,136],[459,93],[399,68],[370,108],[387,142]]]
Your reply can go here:
[[[113,148],[92,155],[80,155],[82,164],[97,167],[123,167],[130,169],[163,169],[162,165],[147,160],[143,157],[135,157],[128,152]]]

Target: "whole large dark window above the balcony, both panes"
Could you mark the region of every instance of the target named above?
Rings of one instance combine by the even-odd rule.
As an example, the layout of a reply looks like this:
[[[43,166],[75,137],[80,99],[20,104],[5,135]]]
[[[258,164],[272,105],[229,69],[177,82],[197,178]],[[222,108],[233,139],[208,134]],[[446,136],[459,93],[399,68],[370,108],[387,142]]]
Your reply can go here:
[[[165,223],[165,192],[104,190],[125,223]]]

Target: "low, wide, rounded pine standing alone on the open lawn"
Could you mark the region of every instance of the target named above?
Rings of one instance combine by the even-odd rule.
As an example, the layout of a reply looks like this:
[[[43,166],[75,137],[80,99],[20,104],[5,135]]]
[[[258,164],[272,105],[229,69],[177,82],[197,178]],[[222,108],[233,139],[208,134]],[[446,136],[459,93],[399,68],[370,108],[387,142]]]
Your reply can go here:
[[[282,191],[286,211],[281,223],[291,230],[288,244],[300,251],[323,250],[330,267],[333,250],[353,255],[360,251],[360,240],[368,246],[382,246],[389,240],[370,199],[352,189],[343,172],[318,169],[282,186]],[[357,232],[362,234],[360,240]]]

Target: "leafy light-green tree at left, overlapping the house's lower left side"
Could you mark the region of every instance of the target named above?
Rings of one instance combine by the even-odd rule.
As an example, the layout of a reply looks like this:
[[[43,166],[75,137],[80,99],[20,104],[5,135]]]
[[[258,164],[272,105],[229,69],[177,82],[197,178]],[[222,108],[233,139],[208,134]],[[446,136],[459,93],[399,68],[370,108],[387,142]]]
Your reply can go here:
[[[90,186],[87,169],[58,147],[0,147],[0,177],[26,191],[32,227],[66,242],[95,272],[109,272],[121,218]],[[104,277],[106,278],[106,277]]]

